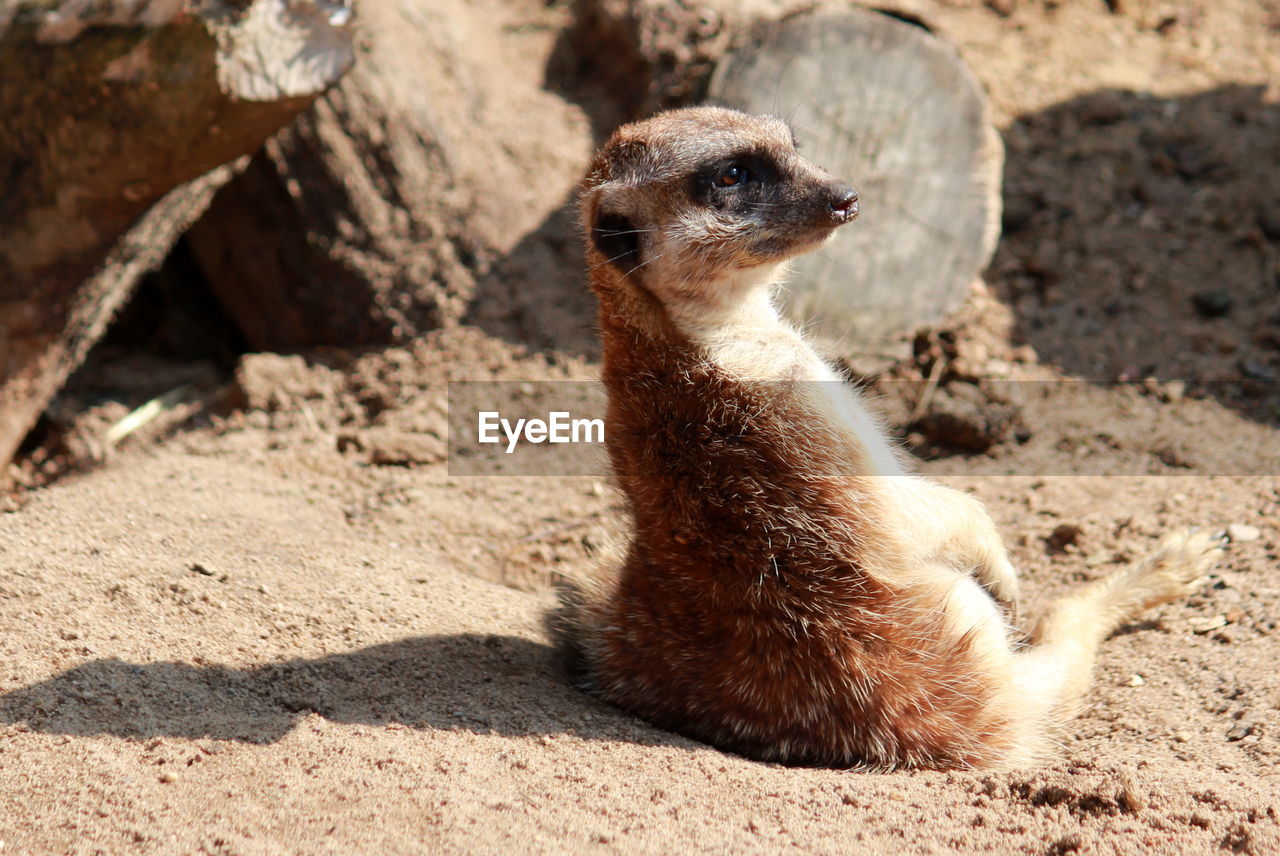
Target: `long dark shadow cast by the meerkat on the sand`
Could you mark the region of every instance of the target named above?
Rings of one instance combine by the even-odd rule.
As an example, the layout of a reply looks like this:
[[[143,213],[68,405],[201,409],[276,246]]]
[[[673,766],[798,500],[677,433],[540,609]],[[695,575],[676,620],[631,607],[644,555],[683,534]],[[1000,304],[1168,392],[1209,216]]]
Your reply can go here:
[[[492,633],[413,637],[248,668],[104,658],[0,695],[0,723],[76,737],[268,745],[316,715],[502,737],[694,745],[576,691],[553,646]]]

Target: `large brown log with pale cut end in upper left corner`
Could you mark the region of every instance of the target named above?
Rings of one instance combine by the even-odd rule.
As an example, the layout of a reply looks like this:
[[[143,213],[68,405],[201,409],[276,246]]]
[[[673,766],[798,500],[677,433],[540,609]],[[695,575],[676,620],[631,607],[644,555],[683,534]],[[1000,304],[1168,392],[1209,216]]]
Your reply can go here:
[[[261,146],[351,64],[340,3],[184,6],[0,9],[0,473],[229,173],[170,191]]]

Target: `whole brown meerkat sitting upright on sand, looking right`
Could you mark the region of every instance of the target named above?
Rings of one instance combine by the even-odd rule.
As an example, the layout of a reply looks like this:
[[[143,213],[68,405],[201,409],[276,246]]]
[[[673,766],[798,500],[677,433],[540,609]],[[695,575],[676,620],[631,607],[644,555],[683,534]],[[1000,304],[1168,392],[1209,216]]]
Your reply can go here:
[[[575,622],[586,683],[618,708],[786,764],[1023,765],[1101,642],[1219,558],[1220,537],[1171,534],[1014,641],[1018,576],[983,505],[911,475],[776,308],[786,260],[858,215],[782,120],[623,125],[580,207],[631,534]]]

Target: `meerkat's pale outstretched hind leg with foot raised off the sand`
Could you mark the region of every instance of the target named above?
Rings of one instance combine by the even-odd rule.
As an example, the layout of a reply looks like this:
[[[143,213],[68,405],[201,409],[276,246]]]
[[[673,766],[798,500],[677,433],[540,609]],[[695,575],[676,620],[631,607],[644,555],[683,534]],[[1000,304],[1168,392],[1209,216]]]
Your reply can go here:
[[[1221,536],[1180,530],[1151,555],[1053,601],[1014,660],[1021,699],[1044,704],[1056,720],[1075,715],[1102,641],[1143,610],[1196,591],[1221,554]]]

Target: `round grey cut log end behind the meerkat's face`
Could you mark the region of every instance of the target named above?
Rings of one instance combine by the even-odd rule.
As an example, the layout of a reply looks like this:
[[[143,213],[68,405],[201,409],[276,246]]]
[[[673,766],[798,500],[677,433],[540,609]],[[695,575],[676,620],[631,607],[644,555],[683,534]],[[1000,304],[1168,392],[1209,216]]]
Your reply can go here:
[[[786,118],[806,157],[859,189],[858,221],[795,264],[795,320],[854,351],[960,305],[1000,235],[1004,147],[951,46],[865,9],[800,14],[758,26],[710,97]]]

